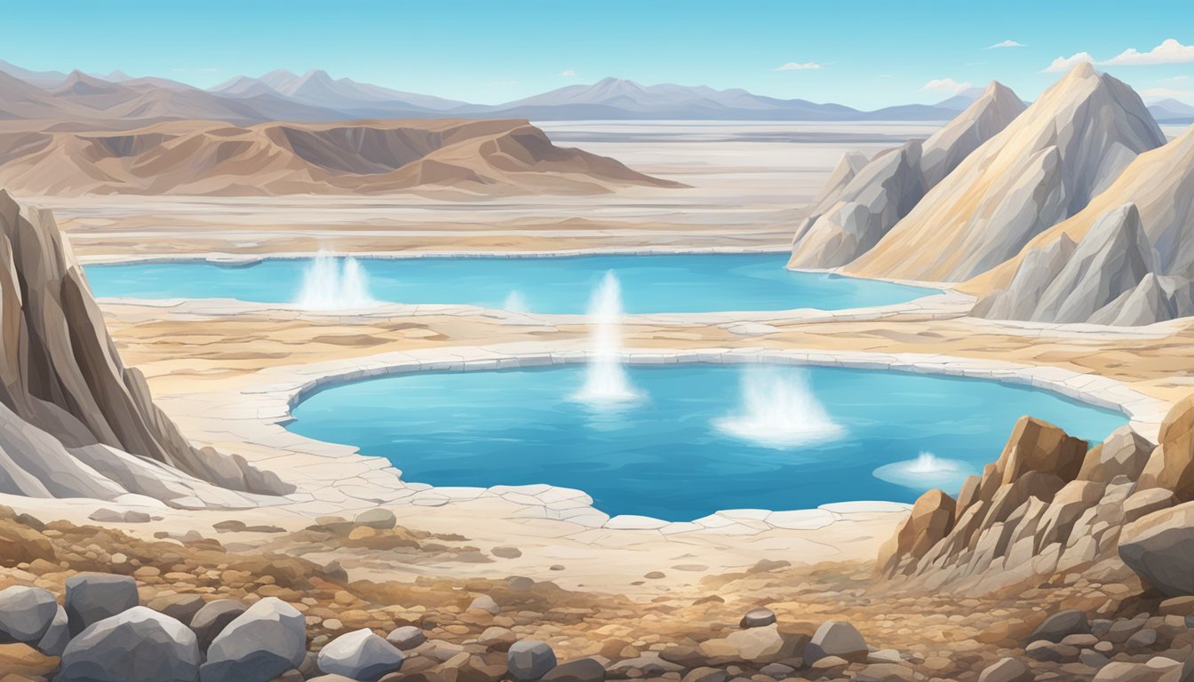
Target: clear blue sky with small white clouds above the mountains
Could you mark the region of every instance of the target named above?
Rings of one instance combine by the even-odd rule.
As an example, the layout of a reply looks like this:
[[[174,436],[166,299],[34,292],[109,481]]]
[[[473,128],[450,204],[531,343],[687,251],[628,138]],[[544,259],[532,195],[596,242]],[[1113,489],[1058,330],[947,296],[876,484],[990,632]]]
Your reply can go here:
[[[1151,56],[1116,59],[1167,39]],[[1004,41],[1022,47],[989,49]],[[322,68],[499,103],[613,75],[866,109],[992,79],[1032,99],[1057,79],[1041,73],[1055,59],[1085,53],[1146,97],[1194,103],[1188,0],[47,1],[6,6],[0,45],[0,59],[25,68],[203,87]]]

